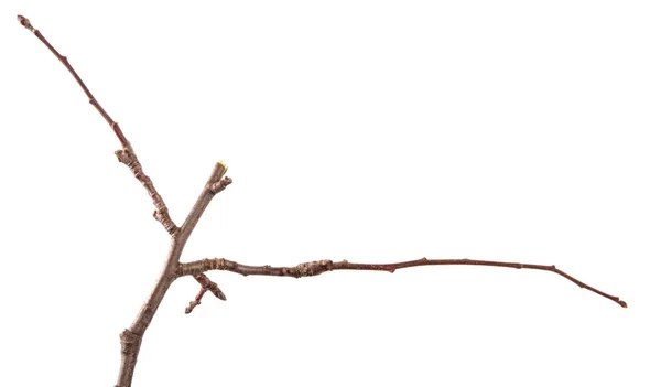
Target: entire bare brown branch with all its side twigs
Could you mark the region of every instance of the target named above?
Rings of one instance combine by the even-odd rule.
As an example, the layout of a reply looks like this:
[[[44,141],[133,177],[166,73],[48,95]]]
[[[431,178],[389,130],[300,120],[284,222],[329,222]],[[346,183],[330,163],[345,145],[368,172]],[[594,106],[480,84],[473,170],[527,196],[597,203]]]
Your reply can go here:
[[[188,304],[185,312],[191,313],[193,309],[201,304],[202,298],[208,291],[220,300],[226,300],[225,293],[220,290],[218,284],[212,281],[206,275],[209,270],[225,270],[232,271],[242,276],[278,276],[278,277],[313,277],[318,276],[327,271],[334,270],[371,270],[371,271],[389,271],[394,272],[398,269],[418,267],[418,266],[443,266],[443,265],[474,265],[474,266],[496,266],[513,269],[534,269],[544,270],[556,273],[574,282],[581,288],[587,289],[596,294],[607,298],[614,302],[617,302],[620,307],[627,308],[627,303],[620,300],[618,297],[607,294],[596,288],[593,288],[566,272],[559,270],[555,266],[544,265],[532,265],[532,264],[517,264],[517,262],[502,262],[502,261],[488,261],[488,260],[474,260],[474,259],[427,259],[421,258],[416,260],[402,261],[395,264],[354,264],[347,260],[332,261],[328,259],[316,260],[310,262],[303,262],[293,267],[271,267],[266,266],[249,266],[235,262],[225,258],[207,258],[197,261],[181,264],[180,258],[183,252],[184,246],[193,233],[193,229],[197,225],[204,211],[210,203],[212,198],[224,191],[232,180],[229,176],[225,176],[227,166],[220,161],[214,165],[212,175],[204,185],[199,197],[193,205],[188,216],[184,221],[181,227],[178,227],[170,217],[167,206],[165,202],[154,187],[151,179],[142,170],[142,164],[138,160],[138,155],[133,151],[130,142],[124,137],[123,132],[119,128],[119,125],[110,118],[108,112],[101,107],[98,100],[89,92],[85,83],[80,79],[76,71],[72,67],[68,60],[61,55],[55,47],[48,43],[48,41],[36,30],[30,20],[22,15],[18,15],[19,23],[32,32],[56,57],[62,62],[66,69],[76,79],[85,95],[87,96],[89,104],[91,104],[98,112],[104,117],[106,122],[110,126],[117,138],[121,143],[121,149],[116,151],[115,154],[119,162],[123,163],[133,173],[136,179],[144,186],[149,193],[152,202],[155,206],[153,217],[163,225],[165,230],[171,235],[171,249],[165,259],[163,271],[161,272],[156,284],[150,293],[148,300],[140,309],[136,320],[128,330],[124,330],[120,334],[121,343],[121,365],[119,376],[117,379],[116,387],[130,387],[133,378],[133,370],[138,361],[138,354],[142,343],[142,337],[148,326],[150,325],[161,301],[163,300],[165,292],[170,286],[180,277],[192,276],[201,286],[199,292],[193,301]]]

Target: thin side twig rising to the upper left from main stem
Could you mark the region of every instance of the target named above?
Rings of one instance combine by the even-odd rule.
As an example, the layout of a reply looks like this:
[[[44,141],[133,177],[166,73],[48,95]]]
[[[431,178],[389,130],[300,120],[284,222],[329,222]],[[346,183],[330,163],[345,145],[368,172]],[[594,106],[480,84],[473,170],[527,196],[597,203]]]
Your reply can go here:
[[[138,155],[136,155],[136,152],[133,151],[133,148],[131,147],[131,143],[124,137],[123,132],[119,128],[119,125],[116,121],[113,121],[112,118],[110,118],[110,115],[108,115],[108,112],[101,107],[99,101],[94,97],[91,92],[89,92],[89,88],[87,88],[87,86],[85,85],[83,79],[80,79],[80,77],[78,76],[78,73],[76,73],[74,67],[72,67],[67,57],[59,54],[59,52],[57,52],[57,50],[55,50],[55,47],[53,47],[53,45],[51,45],[51,43],[44,37],[44,35],[37,29],[32,26],[32,24],[30,23],[30,20],[28,18],[24,18],[20,14],[17,18],[19,20],[19,23],[21,23],[21,25],[23,25],[24,28],[30,30],[32,33],[34,33],[34,35],[40,41],[42,41],[42,43],[46,47],[48,47],[48,50],[51,50],[53,55],[55,55],[55,57],[57,57],[57,60],[59,60],[59,62],[62,62],[62,64],[66,67],[66,69],[68,69],[68,72],[72,74],[72,76],[76,79],[76,82],[78,83],[78,85],[80,86],[83,92],[85,92],[85,95],[89,99],[89,104],[91,104],[91,106],[94,106],[98,110],[98,112],[104,117],[106,122],[108,122],[108,125],[110,126],[110,128],[112,129],[112,131],[115,132],[117,138],[119,139],[119,142],[121,142],[121,147],[122,147],[121,150],[118,150],[115,152],[115,154],[117,155],[117,159],[121,163],[126,164],[131,170],[131,172],[133,172],[133,174],[136,175],[138,181],[140,181],[140,183],[142,183],[142,185],[149,193],[149,196],[152,198],[152,202],[154,203],[154,206],[156,207],[156,211],[153,213],[154,218],[156,221],[159,221],[163,225],[163,227],[165,227],[165,230],[167,230],[167,233],[170,235],[174,235],[174,233],[177,232],[178,227],[170,218],[167,206],[165,205],[165,202],[163,201],[163,198],[161,197],[161,195],[154,187],[154,184],[152,183],[151,179],[147,174],[144,174],[144,172],[142,172],[142,165],[138,161]]]

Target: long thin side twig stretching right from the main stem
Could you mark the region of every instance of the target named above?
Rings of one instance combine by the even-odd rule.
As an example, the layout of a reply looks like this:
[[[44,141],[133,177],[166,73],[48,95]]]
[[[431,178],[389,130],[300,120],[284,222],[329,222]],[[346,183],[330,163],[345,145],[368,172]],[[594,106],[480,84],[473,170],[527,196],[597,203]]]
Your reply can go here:
[[[176,270],[176,275],[182,276],[198,276],[209,270],[226,270],[243,276],[277,276],[277,277],[312,277],[333,270],[369,270],[369,271],[389,271],[394,272],[398,269],[412,268],[416,266],[442,266],[442,265],[473,265],[473,266],[496,266],[512,269],[534,269],[551,271],[560,275],[578,287],[587,289],[594,293],[617,302],[620,307],[627,308],[627,303],[618,297],[607,294],[589,284],[582,282],[566,272],[557,269],[555,265],[531,265],[517,262],[501,262],[494,260],[474,260],[474,259],[426,259],[408,260],[395,264],[353,264],[346,260],[334,262],[332,260],[315,260],[311,262],[300,264],[293,267],[271,267],[271,266],[250,266],[238,264],[224,258],[202,259],[193,262],[181,264]]]

